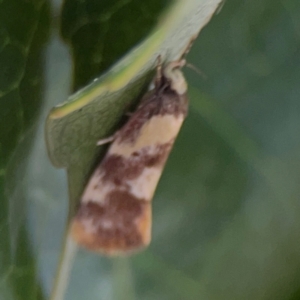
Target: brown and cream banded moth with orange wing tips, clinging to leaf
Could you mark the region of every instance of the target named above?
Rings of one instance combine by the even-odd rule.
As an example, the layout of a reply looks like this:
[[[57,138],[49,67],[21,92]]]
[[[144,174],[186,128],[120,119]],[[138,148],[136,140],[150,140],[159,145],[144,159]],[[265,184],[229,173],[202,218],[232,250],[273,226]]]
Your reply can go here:
[[[157,67],[154,89],[114,135],[71,223],[79,245],[124,255],[150,243],[151,201],[188,111],[184,64],[180,59]]]

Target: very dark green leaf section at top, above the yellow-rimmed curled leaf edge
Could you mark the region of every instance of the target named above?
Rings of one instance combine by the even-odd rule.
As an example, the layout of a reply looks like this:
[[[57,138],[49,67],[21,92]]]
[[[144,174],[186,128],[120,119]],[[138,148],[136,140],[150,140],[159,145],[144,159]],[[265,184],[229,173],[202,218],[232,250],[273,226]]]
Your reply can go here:
[[[73,88],[106,71],[156,24],[169,0],[65,0],[61,33],[74,61]]]

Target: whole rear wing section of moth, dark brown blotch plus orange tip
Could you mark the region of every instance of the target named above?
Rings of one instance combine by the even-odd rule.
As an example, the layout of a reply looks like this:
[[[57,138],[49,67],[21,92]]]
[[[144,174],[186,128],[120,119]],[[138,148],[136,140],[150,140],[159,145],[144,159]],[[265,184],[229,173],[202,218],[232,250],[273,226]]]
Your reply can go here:
[[[81,204],[71,231],[86,248],[114,254],[146,246],[150,242],[150,227],[150,205],[126,191],[116,190],[103,205],[92,201]]]

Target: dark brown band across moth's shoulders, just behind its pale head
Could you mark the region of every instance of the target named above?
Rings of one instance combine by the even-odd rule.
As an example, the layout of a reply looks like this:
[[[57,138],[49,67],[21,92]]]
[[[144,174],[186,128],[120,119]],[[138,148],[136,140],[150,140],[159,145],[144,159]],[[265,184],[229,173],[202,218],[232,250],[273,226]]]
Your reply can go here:
[[[171,90],[168,85],[160,90],[150,91],[144,96],[135,113],[121,128],[116,142],[133,143],[138,138],[143,125],[155,115],[186,116],[187,110],[188,98],[186,94],[179,95]]]

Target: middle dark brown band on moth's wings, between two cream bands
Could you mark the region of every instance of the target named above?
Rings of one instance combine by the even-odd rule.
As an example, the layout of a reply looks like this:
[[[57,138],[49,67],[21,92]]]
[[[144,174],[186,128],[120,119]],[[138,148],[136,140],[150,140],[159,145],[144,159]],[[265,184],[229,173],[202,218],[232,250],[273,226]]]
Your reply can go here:
[[[135,151],[129,157],[108,154],[102,164],[103,181],[113,182],[115,185],[122,185],[127,180],[137,178],[145,168],[163,165],[173,146],[174,141],[163,145],[156,145],[154,150],[144,147]]]

